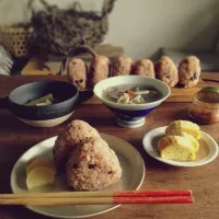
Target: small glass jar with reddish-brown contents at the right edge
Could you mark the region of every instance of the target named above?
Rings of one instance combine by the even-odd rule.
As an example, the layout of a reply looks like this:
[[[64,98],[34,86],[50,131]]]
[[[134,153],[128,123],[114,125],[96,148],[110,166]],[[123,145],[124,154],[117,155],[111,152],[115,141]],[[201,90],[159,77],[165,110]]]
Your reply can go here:
[[[188,107],[188,115],[198,124],[219,122],[219,87],[207,87],[196,93]]]

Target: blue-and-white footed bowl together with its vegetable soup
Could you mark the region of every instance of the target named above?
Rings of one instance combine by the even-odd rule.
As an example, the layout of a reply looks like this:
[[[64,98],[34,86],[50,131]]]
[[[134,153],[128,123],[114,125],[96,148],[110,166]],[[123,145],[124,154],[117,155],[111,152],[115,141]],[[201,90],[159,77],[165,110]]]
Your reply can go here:
[[[112,111],[117,125],[137,128],[171,94],[171,89],[157,79],[120,76],[99,82],[94,94]]]

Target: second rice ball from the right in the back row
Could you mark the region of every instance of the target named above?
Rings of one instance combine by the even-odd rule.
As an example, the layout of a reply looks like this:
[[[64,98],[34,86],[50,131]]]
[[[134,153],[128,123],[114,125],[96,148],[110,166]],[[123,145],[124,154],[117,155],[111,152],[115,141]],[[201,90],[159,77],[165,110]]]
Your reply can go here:
[[[175,64],[166,56],[161,57],[155,64],[155,76],[159,80],[173,88],[178,82],[178,72]]]

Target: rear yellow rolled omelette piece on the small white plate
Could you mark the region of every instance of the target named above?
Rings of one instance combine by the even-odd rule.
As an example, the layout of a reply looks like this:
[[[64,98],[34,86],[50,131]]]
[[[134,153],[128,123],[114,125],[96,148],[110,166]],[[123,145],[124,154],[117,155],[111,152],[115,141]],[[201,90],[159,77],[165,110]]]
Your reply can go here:
[[[174,120],[165,129],[165,134],[170,134],[175,129],[180,129],[186,134],[194,136],[197,140],[200,139],[200,127],[189,120]]]

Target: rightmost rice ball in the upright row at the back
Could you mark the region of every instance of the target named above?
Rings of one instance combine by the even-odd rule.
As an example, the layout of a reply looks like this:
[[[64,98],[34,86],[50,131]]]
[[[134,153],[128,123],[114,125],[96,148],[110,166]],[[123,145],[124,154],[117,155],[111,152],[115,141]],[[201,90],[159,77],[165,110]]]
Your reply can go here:
[[[191,88],[198,83],[200,77],[200,61],[195,56],[185,57],[178,65],[180,84]]]

